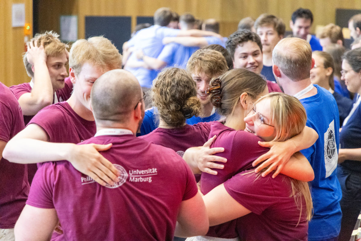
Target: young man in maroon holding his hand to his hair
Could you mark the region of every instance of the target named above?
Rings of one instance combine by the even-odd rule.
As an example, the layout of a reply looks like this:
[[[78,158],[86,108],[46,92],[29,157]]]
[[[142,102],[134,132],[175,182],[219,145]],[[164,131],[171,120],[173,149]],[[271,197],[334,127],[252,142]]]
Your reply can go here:
[[[67,100],[73,90],[70,78],[66,78],[68,45],[58,37],[49,31],[36,34],[27,43],[23,62],[31,81],[10,87],[23,111],[25,125],[45,106]]]

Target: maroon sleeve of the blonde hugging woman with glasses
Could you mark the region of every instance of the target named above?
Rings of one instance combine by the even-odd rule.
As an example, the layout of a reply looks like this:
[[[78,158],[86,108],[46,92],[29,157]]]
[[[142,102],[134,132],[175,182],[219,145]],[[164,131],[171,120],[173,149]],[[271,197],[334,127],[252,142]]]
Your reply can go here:
[[[251,173],[249,173],[251,171]],[[243,171],[224,183],[227,193],[240,205],[260,215],[266,208],[279,202],[275,196],[273,178],[258,176],[253,170]],[[249,174],[246,174],[249,173]],[[282,175],[277,176],[283,178]],[[277,178],[276,177],[276,178]]]

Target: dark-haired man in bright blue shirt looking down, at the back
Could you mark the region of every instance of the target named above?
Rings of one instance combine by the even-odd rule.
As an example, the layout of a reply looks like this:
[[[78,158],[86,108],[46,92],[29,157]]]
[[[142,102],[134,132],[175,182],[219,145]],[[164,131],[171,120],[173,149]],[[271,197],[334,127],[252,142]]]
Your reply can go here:
[[[312,51],[322,51],[322,46],[315,35],[310,34],[313,23],[313,14],[310,9],[299,8],[292,13],[290,20],[290,28],[292,29],[292,36],[306,40]]]

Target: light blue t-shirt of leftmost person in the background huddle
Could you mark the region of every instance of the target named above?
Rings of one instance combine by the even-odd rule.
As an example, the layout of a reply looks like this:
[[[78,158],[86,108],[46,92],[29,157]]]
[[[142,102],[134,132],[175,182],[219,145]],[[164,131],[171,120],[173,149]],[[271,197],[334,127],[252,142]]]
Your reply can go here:
[[[153,25],[146,29],[139,30],[133,38],[128,41],[129,47],[135,47],[141,49],[144,55],[157,58],[161,53],[164,45],[162,40],[164,37],[175,37],[179,33],[179,29],[170,29],[169,27],[161,27],[159,25]],[[135,51],[131,53],[128,61],[140,61],[136,58]],[[153,79],[157,77],[157,71],[145,68],[129,68],[130,71],[138,79],[140,86],[150,88],[152,86]]]

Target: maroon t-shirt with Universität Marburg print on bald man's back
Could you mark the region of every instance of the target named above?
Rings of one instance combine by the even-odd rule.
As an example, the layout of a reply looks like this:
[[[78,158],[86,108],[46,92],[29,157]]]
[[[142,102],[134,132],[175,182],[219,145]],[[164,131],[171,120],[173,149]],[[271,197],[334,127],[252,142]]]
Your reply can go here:
[[[28,205],[55,208],[66,240],[173,240],[181,202],[194,197],[194,176],[173,150],[133,135],[101,135],[85,143],[113,143],[101,154],[121,173],[101,186],[69,162],[44,163]]]

